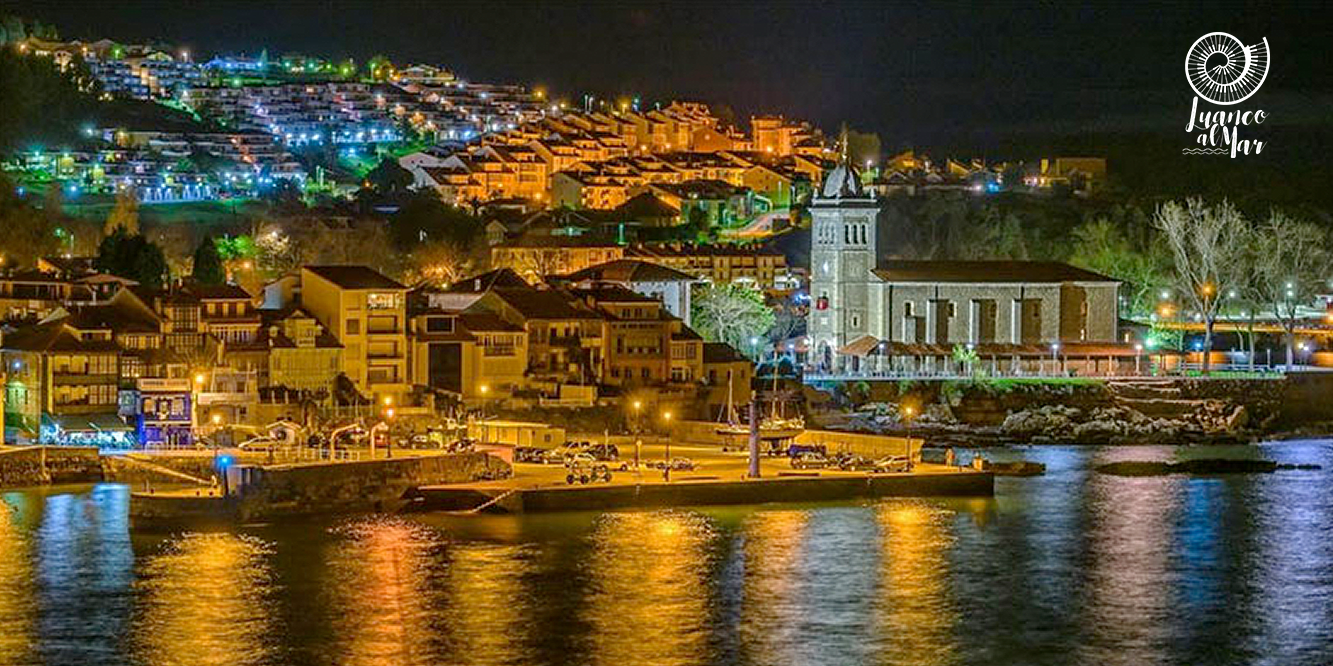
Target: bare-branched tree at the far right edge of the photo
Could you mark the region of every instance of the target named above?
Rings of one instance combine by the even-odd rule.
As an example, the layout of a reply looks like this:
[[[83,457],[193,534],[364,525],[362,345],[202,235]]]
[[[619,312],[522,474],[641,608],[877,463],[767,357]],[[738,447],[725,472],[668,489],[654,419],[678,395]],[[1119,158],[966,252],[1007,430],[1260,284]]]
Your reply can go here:
[[[1281,212],[1269,213],[1256,229],[1252,253],[1253,293],[1257,302],[1272,308],[1282,326],[1286,345],[1286,369],[1292,370],[1296,356],[1296,326],[1301,306],[1326,293],[1333,256],[1328,249],[1328,232],[1316,224],[1288,217]]]

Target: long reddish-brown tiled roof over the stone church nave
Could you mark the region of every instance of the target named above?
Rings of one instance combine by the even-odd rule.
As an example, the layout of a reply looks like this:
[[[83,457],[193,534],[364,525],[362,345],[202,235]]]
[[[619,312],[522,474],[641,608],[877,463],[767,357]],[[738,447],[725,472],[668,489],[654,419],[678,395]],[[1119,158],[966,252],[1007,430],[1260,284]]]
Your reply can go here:
[[[1118,282],[1058,261],[884,261],[885,282]]]

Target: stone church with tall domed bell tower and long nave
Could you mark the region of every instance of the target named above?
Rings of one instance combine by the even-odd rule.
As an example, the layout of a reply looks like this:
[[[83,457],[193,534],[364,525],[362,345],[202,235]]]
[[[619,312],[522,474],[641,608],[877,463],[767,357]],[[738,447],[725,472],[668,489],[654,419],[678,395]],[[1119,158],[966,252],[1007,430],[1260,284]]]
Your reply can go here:
[[[1046,358],[1080,352],[1085,364],[1092,360],[1080,372],[1106,374],[1122,362],[1117,280],[1053,261],[888,260],[878,209],[845,159],[810,204],[806,337],[814,374],[889,370],[908,357],[920,369],[925,357],[948,357],[956,345],[989,353],[997,373],[1034,372]]]

